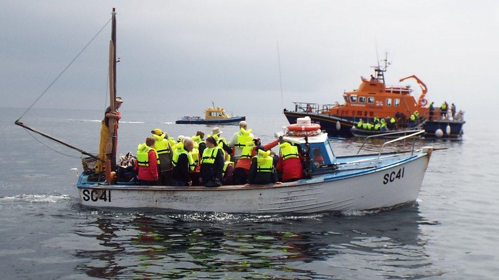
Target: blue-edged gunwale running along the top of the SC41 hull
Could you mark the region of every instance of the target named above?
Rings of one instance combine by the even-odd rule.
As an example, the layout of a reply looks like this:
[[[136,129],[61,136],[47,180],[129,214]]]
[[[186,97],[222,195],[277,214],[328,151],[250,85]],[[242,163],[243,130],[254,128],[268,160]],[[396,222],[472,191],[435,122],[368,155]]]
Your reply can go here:
[[[383,153],[384,154],[384,153]],[[393,152],[387,153],[387,154],[393,154]],[[377,156],[378,154],[376,154]],[[148,191],[234,191],[234,190],[265,190],[265,189],[278,189],[278,188],[286,188],[286,187],[300,187],[300,186],[314,186],[317,184],[323,184],[325,182],[333,182],[333,181],[339,181],[339,180],[344,180],[344,179],[349,179],[351,177],[357,177],[357,176],[362,176],[362,175],[367,175],[370,173],[375,173],[379,172],[385,169],[390,169],[393,166],[401,165],[404,163],[412,162],[415,160],[418,160],[419,158],[422,157],[427,157],[429,154],[428,152],[419,152],[418,154],[415,154],[413,156],[403,158],[399,161],[394,161],[391,164],[388,165],[383,165],[382,167],[366,167],[369,168],[369,170],[364,170],[364,171],[359,171],[351,174],[346,174],[346,175],[339,175],[335,176],[332,178],[327,178],[324,177],[323,180],[321,181],[313,181],[313,182],[289,182],[289,183],[282,183],[280,185],[276,184],[268,184],[268,185],[256,185],[256,186],[249,186],[249,187],[244,187],[244,185],[231,185],[231,186],[220,186],[216,188],[208,188],[208,187],[203,187],[203,186],[196,186],[196,187],[174,187],[174,186],[141,186],[141,185],[96,185],[96,184],[89,184],[89,183],[81,183],[82,175],[79,176],[78,183],[76,187],[78,189],[111,189],[111,190],[148,190]],[[364,156],[364,155],[362,155]],[[376,159],[373,159],[376,160]],[[341,170],[340,170],[341,171]],[[323,174],[321,174],[323,175]],[[313,180],[313,179],[305,179],[305,180]],[[87,184],[87,185],[83,185]]]

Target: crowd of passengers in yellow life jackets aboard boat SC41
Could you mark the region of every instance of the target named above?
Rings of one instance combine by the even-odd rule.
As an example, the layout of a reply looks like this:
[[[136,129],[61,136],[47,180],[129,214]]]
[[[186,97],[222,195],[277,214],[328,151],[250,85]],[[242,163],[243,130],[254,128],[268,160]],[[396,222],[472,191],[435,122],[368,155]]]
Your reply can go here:
[[[260,138],[239,123],[239,132],[227,142],[219,128],[211,136],[198,131],[175,140],[161,129],[151,131],[138,146],[134,169],[144,186],[264,185],[291,182],[304,177],[304,155],[299,144],[282,136],[262,145]],[[271,149],[279,145],[276,155]]]

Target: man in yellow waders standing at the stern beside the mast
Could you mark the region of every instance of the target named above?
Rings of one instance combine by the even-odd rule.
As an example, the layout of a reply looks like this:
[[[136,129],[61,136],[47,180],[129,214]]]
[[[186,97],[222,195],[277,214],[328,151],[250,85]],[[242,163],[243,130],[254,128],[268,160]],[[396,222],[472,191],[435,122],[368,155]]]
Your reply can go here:
[[[102,120],[101,126],[101,139],[99,142],[99,158],[104,160],[109,160],[109,155],[112,149],[112,138],[109,136],[109,119],[115,119],[116,133],[118,134],[118,121],[121,119],[121,113],[118,110],[121,107],[123,100],[121,97],[116,97],[116,112],[111,112],[111,107],[107,107],[104,113],[104,119]],[[118,143],[116,143],[118,146]],[[104,172],[104,163],[97,161],[95,166],[95,172]],[[112,171],[112,170],[111,170]]]

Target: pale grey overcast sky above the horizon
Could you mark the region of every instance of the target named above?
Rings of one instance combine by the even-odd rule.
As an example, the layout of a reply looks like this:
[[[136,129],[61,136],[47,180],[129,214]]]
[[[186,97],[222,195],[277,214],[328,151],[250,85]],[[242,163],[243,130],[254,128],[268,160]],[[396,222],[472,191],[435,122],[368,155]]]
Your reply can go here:
[[[118,19],[118,94],[128,109],[199,114],[215,101],[246,114],[342,99],[389,52],[388,84],[416,74],[428,99],[493,116],[499,104],[497,1],[6,1],[2,107],[27,107]],[[146,4],[144,4],[146,3]],[[37,107],[104,106],[110,25]],[[416,98],[419,88],[412,84]]]

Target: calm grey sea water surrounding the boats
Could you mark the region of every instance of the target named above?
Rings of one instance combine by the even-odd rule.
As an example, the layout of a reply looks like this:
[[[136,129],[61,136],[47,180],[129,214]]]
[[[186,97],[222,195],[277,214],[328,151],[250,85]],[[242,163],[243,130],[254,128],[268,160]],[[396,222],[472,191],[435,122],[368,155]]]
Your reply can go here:
[[[497,124],[468,120],[462,141],[432,154],[419,198],[391,211],[291,215],[93,209],[79,205],[80,155],[15,126],[0,108],[0,271],[41,278],[496,278],[499,273]],[[120,153],[150,131],[192,136],[205,125],[122,110]],[[103,112],[34,109],[22,121],[97,152]],[[286,124],[247,116],[266,143]],[[230,138],[237,126],[222,126]],[[382,141],[369,142],[376,151]],[[334,141],[337,155],[360,140]]]

